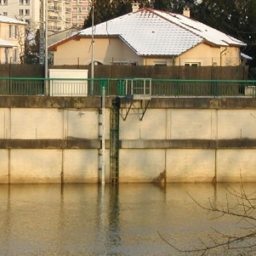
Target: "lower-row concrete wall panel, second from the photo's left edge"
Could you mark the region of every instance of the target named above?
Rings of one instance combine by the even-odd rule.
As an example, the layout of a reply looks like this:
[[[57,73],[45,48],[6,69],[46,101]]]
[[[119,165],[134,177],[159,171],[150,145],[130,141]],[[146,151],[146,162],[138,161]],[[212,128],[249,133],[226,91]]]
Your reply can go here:
[[[61,150],[11,150],[10,183],[60,183]]]

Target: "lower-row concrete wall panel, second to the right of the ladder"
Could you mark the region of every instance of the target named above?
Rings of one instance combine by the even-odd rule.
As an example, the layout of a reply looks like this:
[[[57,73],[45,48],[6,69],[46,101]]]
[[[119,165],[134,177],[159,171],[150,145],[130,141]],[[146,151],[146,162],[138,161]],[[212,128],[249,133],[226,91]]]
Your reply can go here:
[[[214,150],[168,150],[168,182],[212,182]]]

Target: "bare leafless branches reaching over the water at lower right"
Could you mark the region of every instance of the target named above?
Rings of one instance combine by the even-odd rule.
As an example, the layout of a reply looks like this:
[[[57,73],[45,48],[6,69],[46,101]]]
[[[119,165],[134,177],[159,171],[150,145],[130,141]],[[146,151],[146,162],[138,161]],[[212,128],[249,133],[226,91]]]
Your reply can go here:
[[[173,247],[179,253],[185,255],[255,255],[256,254],[256,191],[248,194],[242,182],[240,189],[235,190],[230,185],[226,187],[225,206],[216,206],[209,200],[208,206],[203,206],[197,202],[190,194],[193,200],[200,208],[217,214],[215,218],[230,216],[236,218],[242,225],[239,234],[225,234],[219,230],[214,230],[216,236],[200,238],[201,247],[184,249],[176,247],[174,243],[167,241],[159,232],[164,242]],[[230,200],[230,196],[233,197]],[[231,202],[232,201],[232,202]],[[245,227],[246,226],[246,227]]]

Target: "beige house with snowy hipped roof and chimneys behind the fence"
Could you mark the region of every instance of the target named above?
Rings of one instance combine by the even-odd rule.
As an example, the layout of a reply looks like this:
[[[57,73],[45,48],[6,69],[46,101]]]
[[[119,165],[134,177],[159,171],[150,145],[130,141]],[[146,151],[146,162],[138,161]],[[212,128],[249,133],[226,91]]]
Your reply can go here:
[[[94,44],[92,45],[92,35]],[[246,44],[191,19],[156,9],[105,21],[49,46],[54,65],[240,65]]]

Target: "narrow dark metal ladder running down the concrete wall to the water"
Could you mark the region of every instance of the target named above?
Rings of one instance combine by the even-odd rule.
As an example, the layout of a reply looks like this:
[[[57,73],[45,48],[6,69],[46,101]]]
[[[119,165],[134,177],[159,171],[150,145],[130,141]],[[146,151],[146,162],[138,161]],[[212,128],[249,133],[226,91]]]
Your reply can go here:
[[[110,133],[110,179],[117,184],[119,178],[119,98],[112,100]]]

